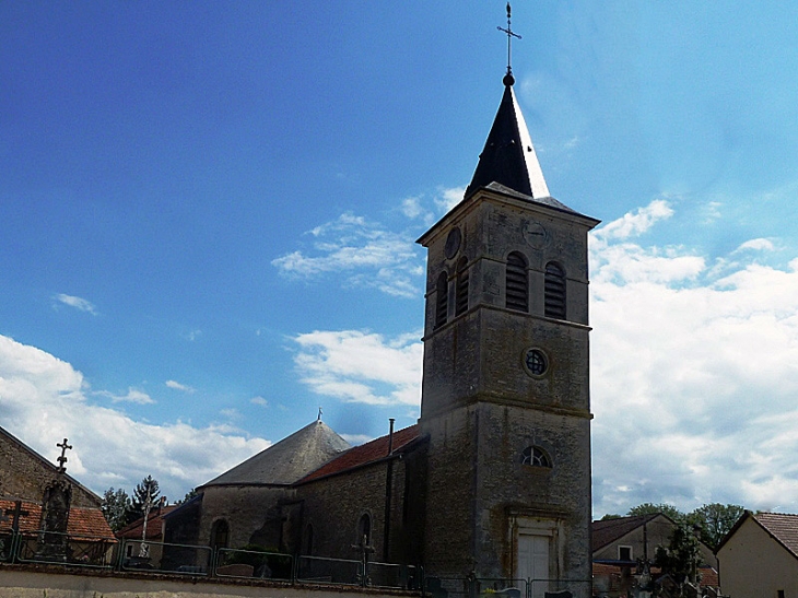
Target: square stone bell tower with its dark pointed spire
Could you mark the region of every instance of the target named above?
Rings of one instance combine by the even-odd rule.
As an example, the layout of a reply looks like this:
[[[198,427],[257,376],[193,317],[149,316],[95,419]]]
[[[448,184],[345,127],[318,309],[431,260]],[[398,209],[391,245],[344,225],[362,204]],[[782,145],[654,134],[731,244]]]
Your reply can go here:
[[[587,233],[599,221],[550,196],[513,84],[508,69],[465,198],[419,239],[424,562],[442,577],[532,579],[537,597],[590,578]]]

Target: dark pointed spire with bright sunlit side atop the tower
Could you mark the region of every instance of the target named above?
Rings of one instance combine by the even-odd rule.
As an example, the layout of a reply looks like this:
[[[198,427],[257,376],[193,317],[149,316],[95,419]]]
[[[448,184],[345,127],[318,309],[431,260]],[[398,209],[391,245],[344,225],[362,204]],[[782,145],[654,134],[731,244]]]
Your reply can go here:
[[[466,197],[491,183],[498,183],[535,199],[549,197],[549,188],[513,92],[513,83],[515,79],[508,68],[504,77],[502,103],[471,184],[466,189]]]

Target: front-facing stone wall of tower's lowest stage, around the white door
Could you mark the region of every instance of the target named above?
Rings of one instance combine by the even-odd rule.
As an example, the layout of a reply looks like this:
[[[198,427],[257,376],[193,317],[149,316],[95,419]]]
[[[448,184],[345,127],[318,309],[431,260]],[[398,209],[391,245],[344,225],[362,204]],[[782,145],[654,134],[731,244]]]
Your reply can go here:
[[[590,577],[589,420],[540,410],[481,403],[477,469],[477,553],[483,571],[516,576],[512,526],[518,518],[555,521],[562,553],[558,578]],[[552,467],[523,464],[523,452],[543,448]],[[503,539],[497,550],[496,539]]]

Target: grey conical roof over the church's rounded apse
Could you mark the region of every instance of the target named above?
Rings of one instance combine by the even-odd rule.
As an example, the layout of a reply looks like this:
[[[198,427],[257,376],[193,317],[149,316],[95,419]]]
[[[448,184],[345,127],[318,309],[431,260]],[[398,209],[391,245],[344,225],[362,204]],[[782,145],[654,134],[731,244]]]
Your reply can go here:
[[[290,485],[350,448],[350,444],[317,420],[246,461],[199,486]]]

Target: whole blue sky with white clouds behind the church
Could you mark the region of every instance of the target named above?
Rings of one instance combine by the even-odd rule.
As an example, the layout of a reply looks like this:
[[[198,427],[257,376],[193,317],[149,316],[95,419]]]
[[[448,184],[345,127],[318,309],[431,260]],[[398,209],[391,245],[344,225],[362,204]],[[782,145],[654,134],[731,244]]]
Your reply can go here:
[[[597,516],[798,511],[798,4],[519,0],[591,239]],[[0,4],[0,425],[171,499],[316,418],[418,418],[424,255],[504,2]]]

